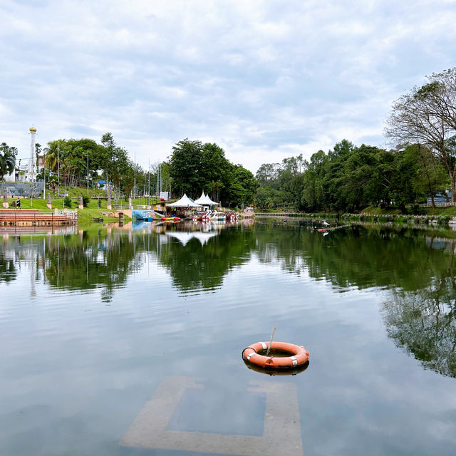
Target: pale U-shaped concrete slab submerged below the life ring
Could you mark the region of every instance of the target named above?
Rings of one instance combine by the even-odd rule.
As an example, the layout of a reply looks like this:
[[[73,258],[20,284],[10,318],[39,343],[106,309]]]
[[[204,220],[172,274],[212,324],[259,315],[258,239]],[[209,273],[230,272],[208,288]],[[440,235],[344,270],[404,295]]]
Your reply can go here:
[[[239,456],[303,454],[298,397],[293,383],[250,382],[248,391],[266,393],[264,432],[261,436],[167,429],[187,388],[203,389],[204,385],[197,378],[165,378],[125,432],[120,445]]]

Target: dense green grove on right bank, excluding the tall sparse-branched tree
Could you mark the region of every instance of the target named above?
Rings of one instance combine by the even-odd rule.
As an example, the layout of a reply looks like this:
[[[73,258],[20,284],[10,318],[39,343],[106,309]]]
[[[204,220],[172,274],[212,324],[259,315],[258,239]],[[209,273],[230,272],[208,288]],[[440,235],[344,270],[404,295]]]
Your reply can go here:
[[[423,202],[448,185],[445,168],[427,147],[405,145],[385,150],[342,140],[327,153],[261,165],[259,207],[292,206],[306,212],[358,212],[370,205]]]

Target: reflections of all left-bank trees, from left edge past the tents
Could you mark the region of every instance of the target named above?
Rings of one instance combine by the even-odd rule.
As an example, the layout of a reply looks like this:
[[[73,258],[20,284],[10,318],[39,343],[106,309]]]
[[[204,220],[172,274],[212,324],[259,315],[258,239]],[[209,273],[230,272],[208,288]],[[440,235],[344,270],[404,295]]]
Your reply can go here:
[[[115,288],[126,284],[147,261],[145,252],[155,254],[178,289],[214,289],[229,270],[248,260],[255,239],[252,229],[233,229],[208,239],[204,246],[192,239],[184,247],[177,239],[160,244],[155,234],[113,231],[52,237],[45,245],[39,251],[33,244],[20,247],[36,264],[33,281],[43,274],[57,289],[100,289],[103,301],[111,301]],[[16,279],[15,267],[14,259],[0,257],[0,280]]]

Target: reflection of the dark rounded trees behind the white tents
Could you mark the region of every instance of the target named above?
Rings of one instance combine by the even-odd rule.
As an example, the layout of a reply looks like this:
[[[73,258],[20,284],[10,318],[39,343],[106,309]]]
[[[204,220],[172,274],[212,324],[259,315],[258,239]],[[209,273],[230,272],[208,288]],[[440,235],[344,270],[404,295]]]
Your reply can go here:
[[[185,246],[170,239],[167,248],[160,251],[159,261],[180,290],[214,289],[222,284],[228,271],[248,261],[254,247],[252,230],[221,230],[204,246],[197,239]]]

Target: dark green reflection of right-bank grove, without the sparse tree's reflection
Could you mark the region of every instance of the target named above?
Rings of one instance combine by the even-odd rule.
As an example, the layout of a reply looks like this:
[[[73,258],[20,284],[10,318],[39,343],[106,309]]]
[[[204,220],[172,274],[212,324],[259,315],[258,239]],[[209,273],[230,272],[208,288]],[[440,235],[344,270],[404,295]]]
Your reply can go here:
[[[411,229],[347,227],[325,237],[297,226],[284,229],[286,234],[273,224],[257,225],[261,261],[278,261],[286,271],[306,270],[340,289],[420,289],[440,273],[447,258],[447,252],[430,248],[423,233]]]

